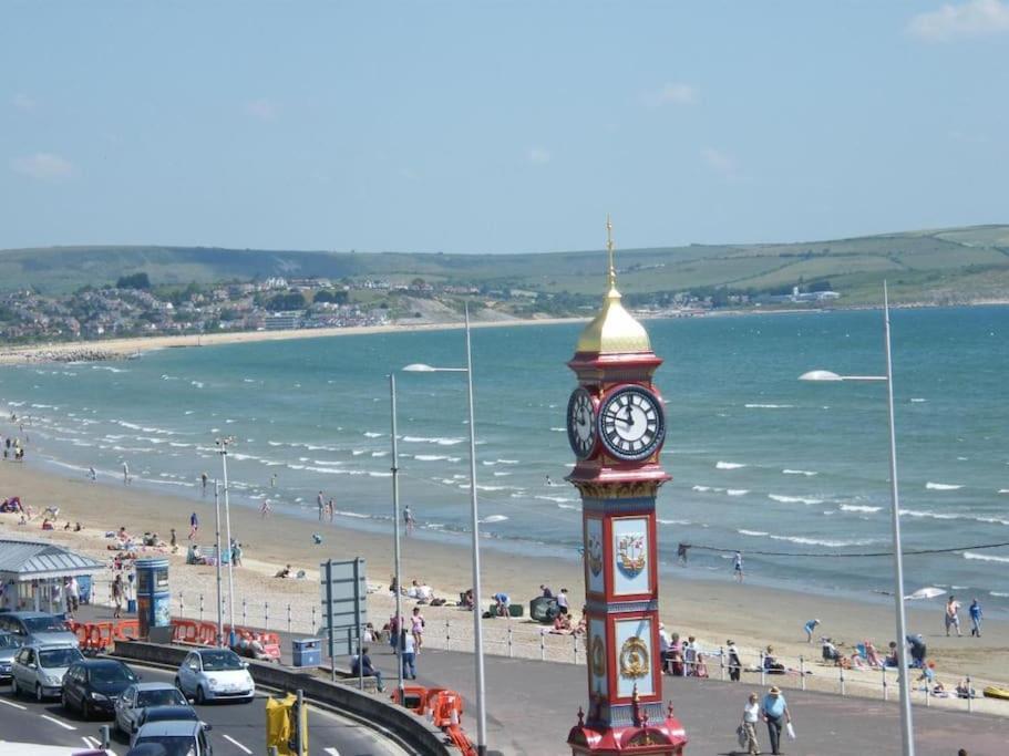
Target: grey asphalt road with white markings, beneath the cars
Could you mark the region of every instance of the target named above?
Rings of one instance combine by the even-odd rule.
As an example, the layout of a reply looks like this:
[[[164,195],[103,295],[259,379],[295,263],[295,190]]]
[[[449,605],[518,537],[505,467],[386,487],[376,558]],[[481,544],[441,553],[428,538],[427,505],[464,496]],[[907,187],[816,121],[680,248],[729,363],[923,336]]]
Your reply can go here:
[[[130,665],[144,682],[171,683],[174,674],[164,670]],[[266,753],[264,706],[266,694],[257,693],[249,704],[208,704],[197,706],[204,722],[214,726],[210,742],[215,756],[248,756]],[[403,750],[385,741],[373,729],[357,722],[309,706],[308,732],[312,754],[327,756],[403,756]],[[14,756],[4,741],[93,747],[99,727],[110,722],[84,722],[79,714],[66,712],[59,701],[38,703],[34,698],[14,697],[10,685],[0,687],[0,756]],[[113,736],[112,749],[128,750],[123,736]]]

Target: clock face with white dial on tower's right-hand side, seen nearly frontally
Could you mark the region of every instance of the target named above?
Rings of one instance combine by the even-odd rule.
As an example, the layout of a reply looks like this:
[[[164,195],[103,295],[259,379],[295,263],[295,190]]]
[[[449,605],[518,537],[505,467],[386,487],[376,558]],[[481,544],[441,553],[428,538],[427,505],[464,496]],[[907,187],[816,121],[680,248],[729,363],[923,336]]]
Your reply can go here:
[[[618,389],[603,402],[599,436],[606,449],[618,459],[646,459],[666,438],[662,402],[647,389]]]

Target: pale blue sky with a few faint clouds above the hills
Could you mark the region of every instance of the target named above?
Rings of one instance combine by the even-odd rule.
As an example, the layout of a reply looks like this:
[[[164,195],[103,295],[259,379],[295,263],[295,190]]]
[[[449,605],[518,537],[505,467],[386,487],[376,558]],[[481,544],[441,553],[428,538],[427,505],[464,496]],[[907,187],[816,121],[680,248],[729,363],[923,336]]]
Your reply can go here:
[[[1009,222],[1009,0],[0,6],[0,249]]]

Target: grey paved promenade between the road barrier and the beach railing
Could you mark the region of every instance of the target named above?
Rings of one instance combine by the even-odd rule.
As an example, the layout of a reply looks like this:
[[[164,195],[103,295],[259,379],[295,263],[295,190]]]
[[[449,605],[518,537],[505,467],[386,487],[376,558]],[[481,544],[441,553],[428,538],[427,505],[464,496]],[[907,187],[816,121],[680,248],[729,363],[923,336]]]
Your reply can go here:
[[[84,614],[109,617],[104,608],[85,608]],[[84,619],[83,617],[81,619]],[[89,618],[90,619],[90,618]],[[206,618],[209,619],[209,618]],[[301,638],[302,635],[295,635]],[[290,661],[291,636],[281,632],[284,661]],[[395,657],[388,643],[371,644],[372,661],[391,691],[395,686]],[[342,666],[349,661],[338,660]],[[416,684],[450,687],[466,702],[463,726],[475,739],[472,702],[476,690],[473,655],[424,649],[418,657]],[[584,665],[540,662],[506,656],[485,657],[487,746],[506,756],[570,754],[568,729],[577,722],[586,696]],[[687,728],[688,756],[729,756],[735,753],[735,726],[750,691],[745,683],[663,677],[663,693]],[[889,756],[900,753],[899,711],[893,702],[841,697],[827,693],[785,691],[797,738],[785,741],[787,756]],[[1009,754],[1009,718],[915,706],[915,744],[918,756]],[[758,733],[761,748],[770,753],[766,728]]]

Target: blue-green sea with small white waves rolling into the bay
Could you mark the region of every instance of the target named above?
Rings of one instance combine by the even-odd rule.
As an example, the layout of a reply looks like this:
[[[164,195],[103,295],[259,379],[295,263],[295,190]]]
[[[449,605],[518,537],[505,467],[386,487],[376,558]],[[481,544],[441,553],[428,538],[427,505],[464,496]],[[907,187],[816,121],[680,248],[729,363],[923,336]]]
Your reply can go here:
[[[885,600],[892,587],[885,384],[811,383],[814,369],[885,372],[881,311],[646,321],[665,360],[658,500],[663,569]],[[1009,308],[892,312],[906,592],[977,597],[1009,613]],[[579,324],[474,329],[477,491],[487,548],[580,559],[566,361]],[[397,375],[400,488],[414,537],[469,541],[461,330],[164,349],[122,362],[0,367],[0,432],[27,436],[28,464],[203,496],[233,438],[233,504],[391,532],[388,375]],[[23,432],[19,429],[23,423]],[[4,491],[4,495],[10,491]],[[178,504],[181,518],[187,501]],[[678,543],[689,543],[686,567]],[[939,553],[915,553],[956,549]],[[933,601],[941,602],[943,599]],[[924,602],[923,602],[924,603]]]

